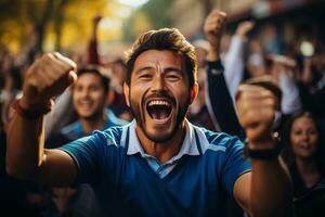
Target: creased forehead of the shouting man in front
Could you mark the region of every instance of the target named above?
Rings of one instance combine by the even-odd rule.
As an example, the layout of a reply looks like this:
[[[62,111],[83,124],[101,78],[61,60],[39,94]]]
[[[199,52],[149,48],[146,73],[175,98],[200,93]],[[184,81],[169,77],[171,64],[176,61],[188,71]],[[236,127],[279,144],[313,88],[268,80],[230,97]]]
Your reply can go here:
[[[169,50],[147,50],[136,58],[133,69],[146,66],[183,69],[184,61],[180,54]]]

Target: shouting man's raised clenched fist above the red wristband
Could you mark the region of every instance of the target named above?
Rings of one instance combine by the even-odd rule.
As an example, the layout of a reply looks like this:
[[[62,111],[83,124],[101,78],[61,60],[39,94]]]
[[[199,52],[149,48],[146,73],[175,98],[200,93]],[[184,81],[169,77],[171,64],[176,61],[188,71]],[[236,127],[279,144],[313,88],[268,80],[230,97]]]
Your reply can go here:
[[[76,63],[60,53],[44,54],[26,73],[21,105],[28,110],[44,106],[76,78]]]

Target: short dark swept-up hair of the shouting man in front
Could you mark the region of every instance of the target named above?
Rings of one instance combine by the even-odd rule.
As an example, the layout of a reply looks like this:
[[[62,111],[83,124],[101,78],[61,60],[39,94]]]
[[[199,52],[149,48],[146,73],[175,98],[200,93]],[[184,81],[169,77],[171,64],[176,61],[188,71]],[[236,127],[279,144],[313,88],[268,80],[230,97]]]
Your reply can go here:
[[[131,74],[136,58],[147,50],[169,50],[180,54],[185,63],[190,87],[197,80],[197,65],[194,47],[186,41],[177,28],[161,28],[142,34],[127,52],[127,84],[131,82]]]

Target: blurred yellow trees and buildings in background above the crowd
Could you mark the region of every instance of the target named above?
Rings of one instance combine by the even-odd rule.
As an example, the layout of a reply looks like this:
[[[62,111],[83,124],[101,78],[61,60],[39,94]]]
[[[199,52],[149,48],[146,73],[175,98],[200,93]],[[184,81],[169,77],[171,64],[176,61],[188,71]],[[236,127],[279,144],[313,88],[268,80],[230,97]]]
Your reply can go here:
[[[193,39],[202,36],[213,8],[229,13],[230,28],[256,18],[260,25],[277,25],[284,40],[325,35],[321,0],[0,0],[0,47],[12,53],[31,46],[46,52],[83,51],[99,14],[101,54],[119,52],[152,28],[178,27]]]

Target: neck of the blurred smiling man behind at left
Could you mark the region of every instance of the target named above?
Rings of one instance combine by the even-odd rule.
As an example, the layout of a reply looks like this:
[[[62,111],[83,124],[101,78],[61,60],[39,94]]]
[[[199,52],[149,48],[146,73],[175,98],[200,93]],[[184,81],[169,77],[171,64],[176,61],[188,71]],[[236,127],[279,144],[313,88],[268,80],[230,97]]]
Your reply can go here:
[[[104,113],[100,113],[92,118],[80,118],[84,135],[90,135],[95,129],[103,129],[107,117],[104,115]]]

